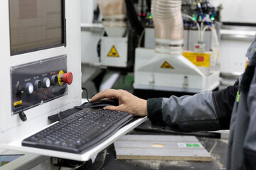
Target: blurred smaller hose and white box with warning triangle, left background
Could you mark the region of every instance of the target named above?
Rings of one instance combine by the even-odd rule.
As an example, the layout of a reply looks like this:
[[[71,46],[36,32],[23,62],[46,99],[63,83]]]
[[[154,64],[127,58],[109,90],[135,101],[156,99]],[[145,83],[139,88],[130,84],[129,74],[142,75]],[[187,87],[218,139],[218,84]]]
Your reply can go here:
[[[128,55],[129,29],[124,1],[97,1],[104,31],[100,42],[100,64],[107,67],[131,66]]]

